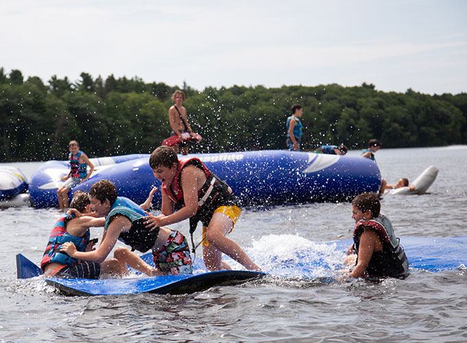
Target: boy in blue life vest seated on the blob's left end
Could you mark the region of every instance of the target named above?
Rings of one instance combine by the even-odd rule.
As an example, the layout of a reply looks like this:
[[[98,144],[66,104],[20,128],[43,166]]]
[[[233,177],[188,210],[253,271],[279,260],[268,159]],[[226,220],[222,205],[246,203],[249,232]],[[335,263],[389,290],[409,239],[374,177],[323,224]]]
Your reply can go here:
[[[70,171],[66,176],[61,178],[65,183],[57,190],[58,206],[60,210],[65,211],[68,208],[68,193],[70,189],[87,180],[93,173],[94,165],[89,161],[88,156],[80,150],[80,145],[77,141],[68,143],[69,155],[68,161],[70,163]],[[89,165],[89,173],[87,166]]]

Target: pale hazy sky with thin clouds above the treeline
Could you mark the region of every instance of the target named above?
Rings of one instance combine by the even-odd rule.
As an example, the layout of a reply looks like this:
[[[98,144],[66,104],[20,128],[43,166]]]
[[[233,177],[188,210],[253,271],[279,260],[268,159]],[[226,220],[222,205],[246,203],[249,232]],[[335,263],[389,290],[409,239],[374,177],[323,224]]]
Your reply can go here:
[[[207,86],[467,92],[467,1],[0,0],[0,67]]]

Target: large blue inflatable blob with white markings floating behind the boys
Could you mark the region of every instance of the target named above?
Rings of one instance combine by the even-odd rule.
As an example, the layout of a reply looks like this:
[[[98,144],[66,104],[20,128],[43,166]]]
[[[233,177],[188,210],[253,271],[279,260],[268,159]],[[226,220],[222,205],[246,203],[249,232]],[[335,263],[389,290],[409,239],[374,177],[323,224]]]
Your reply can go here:
[[[149,167],[149,155],[139,156],[112,157],[113,164],[96,167],[92,176],[73,191],[89,191],[94,182],[108,179],[117,186],[119,196],[141,204],[150,189],[161,184]],[[381,179],[374,161],[354,156],[264,150],[179,158],[192,156],[200,158],[209,170],[225,180],[244,204],[345,201],[364,191],[378,191]],[[118,157],[121,162],[116,161]],[[36,171],[30,182],[34,206],[58,206],[56,191],[62,184],[60,177],[68,171],[65,161],[49,161]],[[160,206],[160,192],[155,194],[153,204]]]

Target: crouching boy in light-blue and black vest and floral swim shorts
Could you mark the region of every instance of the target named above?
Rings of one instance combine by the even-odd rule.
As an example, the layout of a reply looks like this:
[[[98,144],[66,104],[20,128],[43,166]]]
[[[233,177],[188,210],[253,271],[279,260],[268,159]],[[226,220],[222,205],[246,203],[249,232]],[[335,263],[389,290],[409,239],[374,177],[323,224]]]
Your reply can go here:
[[[140,252],[152,250],[156,267],[153,276],[192,272],[190,249],[185,237],[168,228],[146,228],[144,209],[128,198],[117,196],[117,187],[111,181],[95,182],[89,190],[89,200],[95,215],[105,217],[100,246],[97,250],[82,252],[68,242],[62,245],[61,251],[76,259],[102,263],[119,240]]]

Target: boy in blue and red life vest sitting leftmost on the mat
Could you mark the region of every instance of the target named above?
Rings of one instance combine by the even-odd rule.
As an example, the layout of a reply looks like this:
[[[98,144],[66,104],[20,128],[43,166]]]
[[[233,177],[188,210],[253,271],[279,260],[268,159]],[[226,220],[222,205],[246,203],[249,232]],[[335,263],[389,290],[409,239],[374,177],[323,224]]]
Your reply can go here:
[[[127,248],[119,247],[114,252],[114,258],[95,263],[78,261],[60,250],[66,242],[72,242],[80,251],[93,249],[94,242],[89,239],[90,227],[103,226],[104,218],[96,218],[90,212],[88,193],[76,191],[71,200],[71,209],[76,209],[83,216],[62,215],[54,225],[49,242],[45,248],[41,268],[47,277],[66,277],[79,279],[99,279],[101,273],[128,274],[126,264],[133,268],[151,274],[154,268],[139,259]]]

